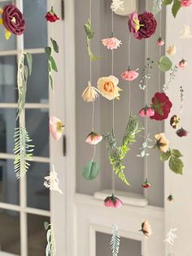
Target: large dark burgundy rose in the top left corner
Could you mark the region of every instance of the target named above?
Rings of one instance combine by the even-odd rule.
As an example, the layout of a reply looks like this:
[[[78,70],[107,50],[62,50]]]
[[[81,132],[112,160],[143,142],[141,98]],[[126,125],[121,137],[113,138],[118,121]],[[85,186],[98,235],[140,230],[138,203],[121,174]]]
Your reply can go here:
[[[25,30],[25,20],[21,11],[15,5],[7,4],[3,7],[2,24],[11,33],[20,36]]]

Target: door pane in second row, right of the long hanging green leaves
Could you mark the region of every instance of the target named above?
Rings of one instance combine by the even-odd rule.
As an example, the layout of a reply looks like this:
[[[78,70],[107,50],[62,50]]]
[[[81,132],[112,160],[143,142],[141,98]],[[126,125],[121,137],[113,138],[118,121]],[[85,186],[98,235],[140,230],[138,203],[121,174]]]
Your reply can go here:
[[[26,102],[47,103],[48,102],[48,64],[44,54],[33,55],[32,76],[28,78],[28,90]]]

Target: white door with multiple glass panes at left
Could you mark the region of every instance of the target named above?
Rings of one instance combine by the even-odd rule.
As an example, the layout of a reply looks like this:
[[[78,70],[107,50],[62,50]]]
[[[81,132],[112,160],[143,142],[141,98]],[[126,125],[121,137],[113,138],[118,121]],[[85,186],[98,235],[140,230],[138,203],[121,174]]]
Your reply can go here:
[[[44,176],[52,164],[59,174],[63,190],[63,139],[58,143],[49,135],[49,117],[54,115],[64,120],[63,94],[63,20],[47,24],[44,18],[51,6],[61,17],[61,2],[46,0],[0,1],[15,3],[24,11],[26,32],[24,37],[11,36],[4,39],[1,26],[0,41],[0,255],[41,256],[45,255],[45,221],[54,224],[58,255],[64,250],[64,200],[57,192],[49,192],[44,186]],[[59,33],[55,33],[59,31]],[[55,92],[49,88],[47,58],[44,47],[54,38],[61,46],[58,56],[59,73],[54,77]],[[26,178],[17,180],[14,172],[14,131],[18,126],[16,109],[17,60],[20,51],[33,54],[33,74],[28,79],[26,99],[26,128],[33,144],[33,161]],[[59,95],[59,96],[57,96]],[[53,202],[54,201],[54,202]],[[55,204],[59,209],[55,210]],[[59,218],[62,216],[62,218]],[[61,239],[57,239],[61,237]]]

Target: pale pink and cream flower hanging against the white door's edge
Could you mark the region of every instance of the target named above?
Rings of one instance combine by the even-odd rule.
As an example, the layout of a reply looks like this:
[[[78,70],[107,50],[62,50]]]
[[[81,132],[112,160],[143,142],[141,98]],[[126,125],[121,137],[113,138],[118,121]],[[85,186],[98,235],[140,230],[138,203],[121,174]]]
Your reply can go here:
[[[50,117],[50,134],[55,140],[59,140],[63,135],[63,122],[57,117]]]

